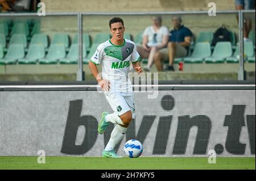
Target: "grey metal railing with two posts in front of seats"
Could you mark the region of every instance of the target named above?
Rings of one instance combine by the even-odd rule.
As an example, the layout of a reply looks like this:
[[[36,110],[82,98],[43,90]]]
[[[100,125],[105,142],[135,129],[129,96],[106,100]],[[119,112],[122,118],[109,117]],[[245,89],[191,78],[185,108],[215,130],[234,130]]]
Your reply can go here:
[[[240,47],[240,58],[239,58],[239,69],[238,69],[238,80],[246,79],[246,72],[244,68],[244,57],[243,57],[243,15],[245,13],[254,13],[255,10],[230,10],[230,11],[216,11],[218,14],[237,14],[239,24],[239,47]],[[208,15],[208,11],[151,11],[151,12],[46,12],[46,16],[77,16],[77,32],[78,32],[78,44],[79,44],[79,62],[77,70],[77,81],[85,80],[85,73],[82,68],[82,16],[90,15],[191,15],[191,14],[205,14]],[[38,16],[36,13],[1,13],[2,16]]]

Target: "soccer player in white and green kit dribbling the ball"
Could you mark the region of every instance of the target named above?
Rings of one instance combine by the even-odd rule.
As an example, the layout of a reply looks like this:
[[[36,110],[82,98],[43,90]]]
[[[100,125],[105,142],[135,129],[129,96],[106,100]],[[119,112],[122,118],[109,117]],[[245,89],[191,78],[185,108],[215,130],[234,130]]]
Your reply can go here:
[[[115,124],[110,140],[102,152],[105,158],[118,158],[114,147],[122,140],[134,118],[133,87],[128,77],[130,62],[137,73],[142,73],[141,57],[133,41],[123,38],[125,27],[121,18],[109,21],[112,39],[100,44],[89,61],[89,68],[104,91],[114,113],[103,112],[98,132],[103,134],[109,123]],[[102,64],[102,77],[97,65]]]

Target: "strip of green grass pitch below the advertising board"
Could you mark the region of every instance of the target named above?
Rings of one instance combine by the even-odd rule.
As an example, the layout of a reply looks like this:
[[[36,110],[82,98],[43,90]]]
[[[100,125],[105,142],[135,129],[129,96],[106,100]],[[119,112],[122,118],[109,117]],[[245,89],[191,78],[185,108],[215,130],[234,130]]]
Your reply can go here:
[[[46,157],[46,163],[38,163],[38,157],[0,157],[1,170],[36,169],[84,169],[84,170],[255,170],[255,158],[217,157],[209,164],[208,157]]]

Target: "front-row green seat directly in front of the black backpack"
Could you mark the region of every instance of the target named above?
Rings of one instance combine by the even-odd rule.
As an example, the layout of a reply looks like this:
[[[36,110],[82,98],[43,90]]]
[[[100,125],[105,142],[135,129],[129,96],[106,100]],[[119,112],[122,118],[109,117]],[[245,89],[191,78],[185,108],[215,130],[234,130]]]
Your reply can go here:
[[[217,42],[210,57],[205,58],[207,63],[223,63],[226,57],[232,56],[232,46],[229,41]]]

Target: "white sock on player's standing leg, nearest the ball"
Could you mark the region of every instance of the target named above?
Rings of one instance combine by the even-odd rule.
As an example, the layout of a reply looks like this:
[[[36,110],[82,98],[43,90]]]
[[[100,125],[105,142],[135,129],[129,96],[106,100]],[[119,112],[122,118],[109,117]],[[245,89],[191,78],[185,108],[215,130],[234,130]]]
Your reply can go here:
[[[104,150],[105,151],[114,150],[115,145],[117,145],[122,140],[123,136],[126,133],[126,130],[127,130],[127,128],[121,127],[121,125],[118,125],[118,124],[115,125],[115,127],[111,133],[109,142],[106,145],[106,148]]]

